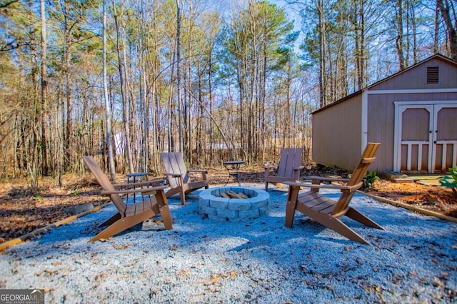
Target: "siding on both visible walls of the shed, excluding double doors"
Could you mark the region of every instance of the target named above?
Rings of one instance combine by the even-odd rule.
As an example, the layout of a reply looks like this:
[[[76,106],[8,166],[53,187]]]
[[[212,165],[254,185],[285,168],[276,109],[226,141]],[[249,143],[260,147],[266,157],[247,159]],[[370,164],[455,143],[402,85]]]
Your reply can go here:
[[[438,67],[438,83],[427,83],[428,67]],[[363,148],[361,143],[362,138],[365,140],[365,137],[362,133],[364,131],[362,124],[366,122],[366,141],[381,143],[376,161],[370,168],[376,169],[378,172],[393,170],[394,165],[398,164],[398,160],[396,161],[393,155],[396,131],[394,102],[457,103],[456,88],[457,64],[446,57],[435,55],[420,64],[313,112],[313,161],[326,166],[353,170]],[[414,90],[420,90],[421,93],[416,93]],[[442,92],[433,92],[433,90]],[[428,91],[431,93],[426,93]],[[363,96],[367,98],[366,121],[362,117]],[[455,133],[453,130],[455,130],[456,123],[447,122],[449,117],[455,115],[455,109],[446,110],[441,114],[447,118],[446,122],[441,123],[445,126],[438,126],[440,130],[444,130],[443,134]],[[411,123],[411,126],[403,126],[403,128],[408,127],[414,128],[415,125]],[[411,132],[405,130],[405,134]],[[441,152],[438,151],[438,153]],[[451,152],[445,152],[445,154],[449,153]],[[417,160],[413,159],[413,161]],[[446,162],[448,162],[447,158]]]

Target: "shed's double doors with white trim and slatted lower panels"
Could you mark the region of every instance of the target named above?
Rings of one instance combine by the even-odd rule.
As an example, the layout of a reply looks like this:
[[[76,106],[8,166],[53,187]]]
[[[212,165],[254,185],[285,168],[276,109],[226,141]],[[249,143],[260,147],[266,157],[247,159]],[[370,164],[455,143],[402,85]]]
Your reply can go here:
[[[456,166],[455,104],[410,104],[398,112],[395,171],[440,173]]]

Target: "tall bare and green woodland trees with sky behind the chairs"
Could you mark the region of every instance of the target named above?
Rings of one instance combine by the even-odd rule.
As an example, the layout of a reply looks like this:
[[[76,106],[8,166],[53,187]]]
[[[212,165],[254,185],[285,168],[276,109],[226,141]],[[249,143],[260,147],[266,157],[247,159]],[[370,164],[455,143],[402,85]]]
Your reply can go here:
[[[0,0],[0,179],[309,161],[312,111],[456,29],[453,0]]]

